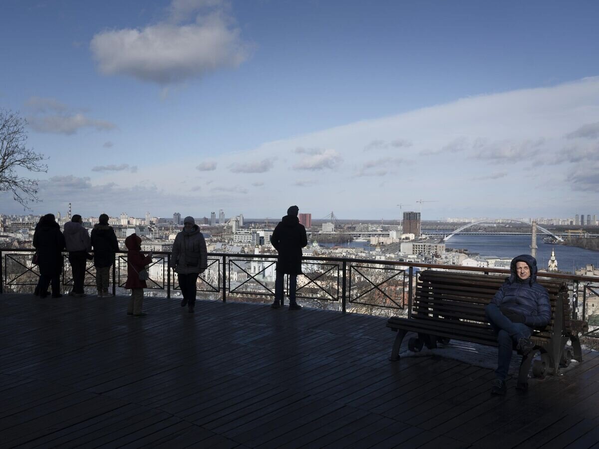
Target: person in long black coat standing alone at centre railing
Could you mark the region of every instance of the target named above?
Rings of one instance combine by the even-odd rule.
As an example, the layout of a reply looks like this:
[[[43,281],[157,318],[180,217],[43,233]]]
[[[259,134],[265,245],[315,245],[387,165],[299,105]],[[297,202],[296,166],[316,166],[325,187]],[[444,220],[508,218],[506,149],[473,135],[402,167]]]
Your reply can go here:
[[[308,245],[304,225],[299,224],[299,208],[291,206],[277,227],[274,228],[270,243],[279,252],[277,257],[277,276],[274,281],[273,309],[283,305],[283,276],[289,277],[289,310],[299,310],[301,306],[295,300],[297,276],[301,275],[301,249]]]

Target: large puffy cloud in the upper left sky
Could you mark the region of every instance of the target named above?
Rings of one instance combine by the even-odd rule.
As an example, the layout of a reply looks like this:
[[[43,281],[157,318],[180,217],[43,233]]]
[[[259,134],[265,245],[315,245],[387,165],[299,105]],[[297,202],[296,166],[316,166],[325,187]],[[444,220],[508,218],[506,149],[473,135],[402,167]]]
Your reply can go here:
[[[250,55],[217,1],[174,1],[164,22],[142,29],[102,31],[90,42],[93,58],[106,75],[125,75],[168,85],[202,77],[220,68],[235,68]],[[204,8],[193,23],[180,22]]]

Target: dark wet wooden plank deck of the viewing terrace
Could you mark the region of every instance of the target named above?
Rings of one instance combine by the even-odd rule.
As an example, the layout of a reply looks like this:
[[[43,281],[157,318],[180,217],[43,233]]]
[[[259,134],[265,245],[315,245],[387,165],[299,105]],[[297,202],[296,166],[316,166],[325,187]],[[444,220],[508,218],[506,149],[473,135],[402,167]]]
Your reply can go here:
[[[0,447],[599,448],[599,357],[509,381],[388,361],[385,319],[243,303],[0,295]]]

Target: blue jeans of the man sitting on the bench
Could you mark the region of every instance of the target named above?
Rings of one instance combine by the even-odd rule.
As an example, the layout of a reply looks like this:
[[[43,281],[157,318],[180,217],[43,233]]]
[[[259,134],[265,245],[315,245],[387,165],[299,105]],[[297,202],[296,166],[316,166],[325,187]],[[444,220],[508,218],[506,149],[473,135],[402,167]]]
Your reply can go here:
[[[510,360],[512,360],[514,344],[518,343],[518,340],[521,338],[530,337],[533,329],[524,323],[512,323],[494,304],[486,306],[485,315],[497,334],[497,342],[499,343],[495,376],[504,381],[507,378]]]

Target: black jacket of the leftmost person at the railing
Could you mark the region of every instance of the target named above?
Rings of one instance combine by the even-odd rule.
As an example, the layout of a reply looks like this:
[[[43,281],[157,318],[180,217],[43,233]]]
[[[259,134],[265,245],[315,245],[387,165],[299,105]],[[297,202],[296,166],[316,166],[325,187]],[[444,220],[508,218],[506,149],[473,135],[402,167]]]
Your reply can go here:
[[[65,237],[60,225],[52,220],[42,219],[35,226],[34,248],[38,253],[38,266],[43,275],[55,276],[62,271],[62,250],[65,249]]]

